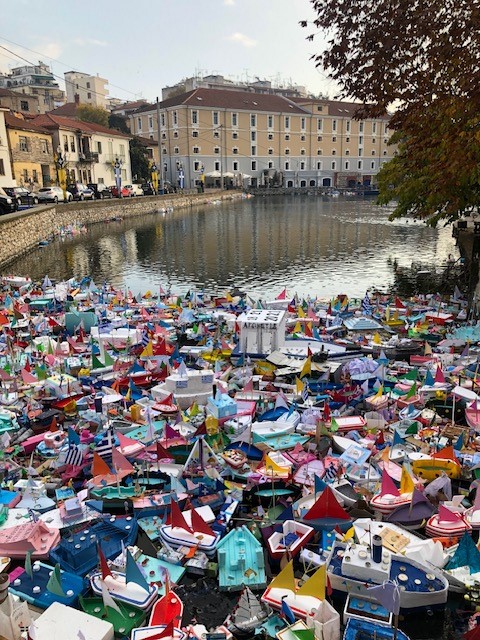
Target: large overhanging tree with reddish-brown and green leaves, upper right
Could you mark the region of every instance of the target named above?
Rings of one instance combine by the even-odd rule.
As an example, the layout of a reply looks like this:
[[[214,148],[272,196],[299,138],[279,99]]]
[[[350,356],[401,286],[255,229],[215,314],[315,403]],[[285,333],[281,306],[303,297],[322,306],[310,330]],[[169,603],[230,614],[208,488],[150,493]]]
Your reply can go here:
[[[398,202],[392,217],[413,212],[435,225],[478,207],[480,4],[311,3],[314,25],[327,35],[316,66],[338,83],[342,98],[359,101],[356,117],[395,108],[389,126],[398,155],[379,174],[380,201]]]

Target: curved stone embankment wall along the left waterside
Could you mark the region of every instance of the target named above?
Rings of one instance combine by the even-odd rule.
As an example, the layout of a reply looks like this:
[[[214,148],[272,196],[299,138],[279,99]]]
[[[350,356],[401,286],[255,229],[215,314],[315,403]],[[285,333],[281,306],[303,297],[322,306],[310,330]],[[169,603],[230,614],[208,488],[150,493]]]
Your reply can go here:
[[[38,206],[0,217],[0,268],[27,253],[39,242],[50,238],[62,227],[90,225],[114,218],[129,218],[148,213],[208,205],[215,200],[242,197],[240,191],[141,196],[123,200],[97,200]]]

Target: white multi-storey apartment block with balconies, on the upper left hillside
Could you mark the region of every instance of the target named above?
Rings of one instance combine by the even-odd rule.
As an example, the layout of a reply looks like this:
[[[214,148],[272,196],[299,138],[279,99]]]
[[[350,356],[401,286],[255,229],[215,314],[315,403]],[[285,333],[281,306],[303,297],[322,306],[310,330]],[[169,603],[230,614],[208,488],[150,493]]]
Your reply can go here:
[[[38,113],[46,113],[65,102],[65,94],[60,89],[48,65],[24,65],[12,69],[8,75],[0,75],[0,87],[12,89],[38,98]]]

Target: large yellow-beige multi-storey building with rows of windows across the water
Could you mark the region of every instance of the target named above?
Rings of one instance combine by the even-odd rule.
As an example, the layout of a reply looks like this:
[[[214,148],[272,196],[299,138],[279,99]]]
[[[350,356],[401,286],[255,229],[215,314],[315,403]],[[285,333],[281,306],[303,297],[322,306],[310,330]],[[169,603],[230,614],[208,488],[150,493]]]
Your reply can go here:
[[[160,103],[164,178],[185,185],[372,186],[394,149],[389,118],[355,120],[358,105],[199,88]],[[132,134],[158,139],[156,105],[130,114]]]

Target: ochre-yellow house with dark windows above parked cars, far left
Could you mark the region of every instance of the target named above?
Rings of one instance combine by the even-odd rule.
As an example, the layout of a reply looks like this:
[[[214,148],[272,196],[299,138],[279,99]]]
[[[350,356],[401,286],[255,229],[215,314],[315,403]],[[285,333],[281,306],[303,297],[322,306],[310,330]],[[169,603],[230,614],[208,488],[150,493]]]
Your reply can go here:
[[[30,190],[55,183],[52,134],[31,120],[5,115],[13,178]]]

